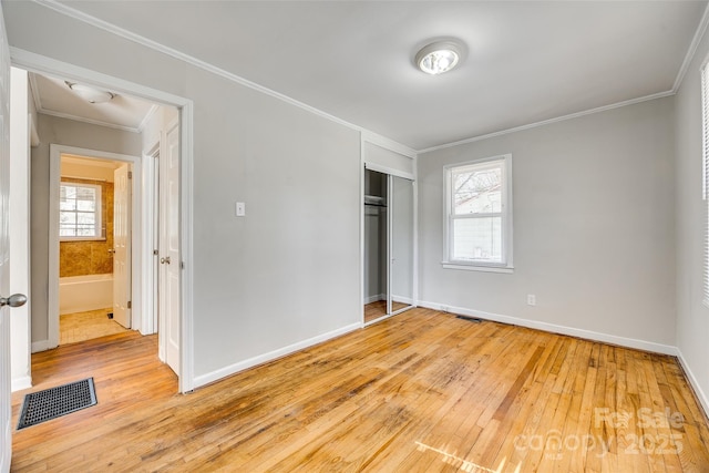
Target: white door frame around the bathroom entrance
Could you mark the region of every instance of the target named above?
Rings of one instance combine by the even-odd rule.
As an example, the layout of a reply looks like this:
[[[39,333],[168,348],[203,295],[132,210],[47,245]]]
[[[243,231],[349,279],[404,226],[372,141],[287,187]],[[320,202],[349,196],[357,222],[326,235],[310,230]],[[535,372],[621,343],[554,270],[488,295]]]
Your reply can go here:
[[[145,257],[144,232],[141,223],[141,209],[145,207],[143,204],[143,195],[140,183],[142,178],[142,163],[140,156],[131,156],[127,154],[109,153],[105,151],[89,150],[75,146],[65,146],[61,144],[49,145],[49,278],[48,278],[48,301],[47,310],[49,317],[49,347],[48,349],[59,346],[59,193],[61,184],[61,160],[62,155],[70,154],[72,156],[86,157],[96,161],[114,161],[129,163],[133,171],[131,179],[131,297],[135,301],[135,308],[131,310],[131,327],[137,328],[143,335],[144,328],[152,326],[152,312],[143,312],[141,309],[144,297],[153,297],[152,291],[145,291],[145,270],[142,269],[141,258]],[[150,230],[150,229],[148,229]],[[150,240],[148,240],[150,243]],[[151,248],[152,255],[152,248]],[[152,261],[152,256],[151,256]],[[138,269],[141,268],[141,269]],[[150,323],[150,325],[146,325]]]

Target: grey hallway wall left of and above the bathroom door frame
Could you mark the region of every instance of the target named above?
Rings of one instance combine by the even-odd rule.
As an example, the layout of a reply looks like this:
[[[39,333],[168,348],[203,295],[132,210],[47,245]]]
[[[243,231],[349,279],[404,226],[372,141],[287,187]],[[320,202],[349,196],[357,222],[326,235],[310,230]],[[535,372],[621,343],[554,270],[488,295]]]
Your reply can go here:
[[[49,340],[49,196],[50,144],[141,155],[141,135],[73,120],[39,115],[40,145],[32,148],[31,253],[32,343]]]

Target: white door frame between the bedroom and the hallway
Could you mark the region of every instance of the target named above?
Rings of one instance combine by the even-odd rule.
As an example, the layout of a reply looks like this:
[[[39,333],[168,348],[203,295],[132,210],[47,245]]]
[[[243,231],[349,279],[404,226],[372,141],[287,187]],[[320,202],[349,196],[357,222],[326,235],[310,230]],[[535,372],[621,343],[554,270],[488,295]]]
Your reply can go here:
[[[142,84],[107,75],[90,69],[58,61],[41,54],[18,48],[10,48],[11,64],[30,72],[38,72],[100,88],[123,92],[130,95],[174,106],[179,110],[179,245],[182,254],[181,278],[181,369],[178,377],[179,392],[194,389],[194,266],[193,266],[193,215],[194,215],[194,104],[192,100],[174,95],[169,92],[152,89]],[[141,183],[145,189],[150,183]],[[144,195],[150,195],[143,192]],[[29,218],[29,216],[28,216]],[[142,301],[145,305],[145,298]],[[143,306],[143,312],[151,311],[151,306]]]

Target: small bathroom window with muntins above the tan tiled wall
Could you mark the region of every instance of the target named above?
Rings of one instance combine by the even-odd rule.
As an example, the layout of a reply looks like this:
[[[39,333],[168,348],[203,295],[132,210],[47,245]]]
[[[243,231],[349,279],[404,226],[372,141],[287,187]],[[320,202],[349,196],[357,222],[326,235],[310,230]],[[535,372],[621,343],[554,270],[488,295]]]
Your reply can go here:
[[[103,239],[101,228],[101,186],[61,183],[59,238]]]

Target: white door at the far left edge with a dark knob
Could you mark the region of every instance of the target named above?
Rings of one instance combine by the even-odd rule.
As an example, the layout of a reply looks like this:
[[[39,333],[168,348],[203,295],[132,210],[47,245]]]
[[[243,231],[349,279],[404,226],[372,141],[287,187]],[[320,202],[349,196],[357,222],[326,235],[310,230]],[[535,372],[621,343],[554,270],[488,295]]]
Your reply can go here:
[[[0,473],[10,471],[12,456],[12,408],[10,403],[10,53],[0,10]]]

